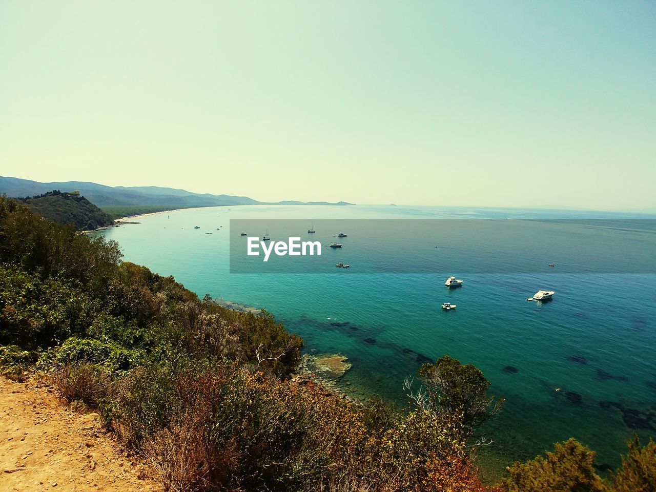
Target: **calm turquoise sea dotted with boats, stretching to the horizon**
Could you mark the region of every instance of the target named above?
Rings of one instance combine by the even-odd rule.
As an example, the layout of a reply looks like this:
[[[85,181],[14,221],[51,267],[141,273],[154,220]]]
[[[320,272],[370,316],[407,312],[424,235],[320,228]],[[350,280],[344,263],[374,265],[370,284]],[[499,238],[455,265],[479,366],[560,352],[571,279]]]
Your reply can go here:
[[[570,437],[594,449],[605,472],[619,466],[634,434],[644,442],[656,435],[656,216],[241,205],[128,220],[139,223],[95,234],[117,241],[123,260],[173,276],[200,297],[265,308],[303,338],[307,354],[346,356],[352,368],[338,386],[353,398],[377,395],[407,407],[403,382],[422,363],[449,355],[476,365],[491,381],[489,393],[505,399],[483,428],[492,442],[478,451],[488,478]],[[472,220],[482,232],[459,235],[459,224]],[[510,220],[528,224],[537,246],[513,249],[520,241],[504,232]],[[263,269],[240,272],[235,245],[249,224],[259,229],[249,236],[274,240],[294,224],[304,239],[314,228],[321,268],[298,262],[295,272],[287,257],[284,268],[268,271],[259,258]],[[267,232],[260,224],[270,224]],[[369,231],[367,241],[360,230]],[[337,238],[340,231],[347,237]],[[342,248],[327,248],[331,241]],[[451,275],[462,287],[445,287]],[[555,292],[550,302],[527,301],[541,289]],[[443,302],[457,308],[444,311]]]

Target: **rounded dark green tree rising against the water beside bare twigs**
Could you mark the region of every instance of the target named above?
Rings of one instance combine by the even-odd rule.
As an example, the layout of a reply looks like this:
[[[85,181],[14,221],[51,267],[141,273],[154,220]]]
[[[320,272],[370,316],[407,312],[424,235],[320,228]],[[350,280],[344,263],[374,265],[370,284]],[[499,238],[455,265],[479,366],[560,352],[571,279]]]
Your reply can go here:
[[[418,374],[425,389],[411,398],[421,409],[458,420],[464,438],[473,436],[476,426],[501,410],[504,399],[487,396],[490,382],[472,364],[462,365],[458,359],[444,356],[434,364],[424,364]],[[410,386],[406,381],[406,387]]]

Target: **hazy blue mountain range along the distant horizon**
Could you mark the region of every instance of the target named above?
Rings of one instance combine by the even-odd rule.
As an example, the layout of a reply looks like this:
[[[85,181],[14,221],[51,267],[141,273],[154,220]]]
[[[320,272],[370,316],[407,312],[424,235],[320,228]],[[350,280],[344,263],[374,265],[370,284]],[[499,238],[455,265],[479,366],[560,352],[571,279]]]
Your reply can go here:
[[[345,201],[338,203],[326,201],[270,203],[246,196],[199,194],[175,188],[160,188],[159,186],[105,186],[83,181],[41,183],[0,176],[0,194],[8,197],[39,195],[52,192],[52,190],[77,191],[113,216],[190,207],[215,207],[217,205],[353,205]]]

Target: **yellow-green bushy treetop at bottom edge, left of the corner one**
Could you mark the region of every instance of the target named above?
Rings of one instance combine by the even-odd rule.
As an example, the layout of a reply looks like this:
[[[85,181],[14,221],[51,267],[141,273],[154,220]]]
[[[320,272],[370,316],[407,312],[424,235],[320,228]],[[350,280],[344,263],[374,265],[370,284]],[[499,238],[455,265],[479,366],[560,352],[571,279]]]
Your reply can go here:
[[[594,471],[595,457],[594,451],[570,438],[556,443],[546,457],[516,462],[499,488],[502,492],[603,492],[607,489]]]

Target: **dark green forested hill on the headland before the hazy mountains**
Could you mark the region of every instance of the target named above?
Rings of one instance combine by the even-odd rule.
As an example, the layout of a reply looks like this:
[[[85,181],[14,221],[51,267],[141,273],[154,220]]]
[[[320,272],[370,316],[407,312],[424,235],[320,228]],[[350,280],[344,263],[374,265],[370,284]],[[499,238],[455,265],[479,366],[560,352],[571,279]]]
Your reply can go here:
[[[42,195],[19,198],[37,214],[59,222],[73,224],[76,228],[92,231],[102,226],[111,226],[112,218],[79,193],[53,190]]]

